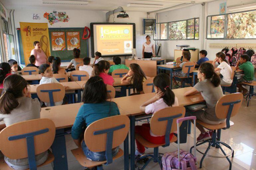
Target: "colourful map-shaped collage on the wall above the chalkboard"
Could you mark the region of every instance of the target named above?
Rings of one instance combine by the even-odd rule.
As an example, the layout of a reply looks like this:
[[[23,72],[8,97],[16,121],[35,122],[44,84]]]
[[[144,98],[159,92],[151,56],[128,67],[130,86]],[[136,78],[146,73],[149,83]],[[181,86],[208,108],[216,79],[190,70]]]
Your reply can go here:
[[[51,13],[45,13],[44,18],[48,20],[48,22],[53,25],[56,22],[68,22],[69,18],[66,15],[66,12],[57,12],[53,11]]]

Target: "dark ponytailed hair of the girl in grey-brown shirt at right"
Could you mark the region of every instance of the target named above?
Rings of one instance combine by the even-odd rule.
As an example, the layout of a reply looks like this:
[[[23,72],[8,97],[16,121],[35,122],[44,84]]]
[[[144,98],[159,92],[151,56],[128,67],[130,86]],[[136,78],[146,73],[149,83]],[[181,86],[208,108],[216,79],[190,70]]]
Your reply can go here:
[[[199,67],[199,72],[204,73],[205,78],[211,80],[211,83],[218,87],[220,85],[220,77],[215,73],[213,65],[210,63],[203,63]]]

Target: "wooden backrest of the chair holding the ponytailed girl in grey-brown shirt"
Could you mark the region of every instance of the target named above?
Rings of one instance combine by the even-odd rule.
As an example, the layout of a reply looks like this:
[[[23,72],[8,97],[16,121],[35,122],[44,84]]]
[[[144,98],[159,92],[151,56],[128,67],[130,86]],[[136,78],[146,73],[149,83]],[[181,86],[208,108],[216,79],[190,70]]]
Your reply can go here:
[[[219,119],[226,119],[227,129],[230,127],[230,117],[235,116],[242,105],[243,94],[232,93],[221,97],[215,107],[216,116]]]

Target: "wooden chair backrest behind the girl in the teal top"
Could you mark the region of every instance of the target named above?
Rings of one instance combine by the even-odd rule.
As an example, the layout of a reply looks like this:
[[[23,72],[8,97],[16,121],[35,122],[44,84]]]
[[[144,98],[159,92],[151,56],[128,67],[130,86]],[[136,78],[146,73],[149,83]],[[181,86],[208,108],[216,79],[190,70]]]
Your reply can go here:
[[[84,132],[84,142],[93,152],[106,151],[107,164],[112,163],[112,149],[125,140],[130,127],[126,115],[103,118],[91,123]]]

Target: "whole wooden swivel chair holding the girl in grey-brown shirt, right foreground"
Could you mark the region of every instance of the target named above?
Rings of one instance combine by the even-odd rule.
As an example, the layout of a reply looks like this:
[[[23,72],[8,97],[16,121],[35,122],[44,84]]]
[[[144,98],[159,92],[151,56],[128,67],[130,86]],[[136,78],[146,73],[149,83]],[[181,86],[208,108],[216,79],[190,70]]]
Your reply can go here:
[[[238,110],[242,105],[242,101],[243,101],[242,93],[228,94],[218,100],[216,107],[215,107],[216,117],[219,119],[226,119],[226,121],[224,123],[220,123],[218,125],[212,125],[212,124],[208,124],[203,121],[200,121],[198,119],[196,120],[196,123],[202,125],[204,128],[213,130],[212,139],[203,141],[203,142],[199,142],[196,144],[196,148],[197,148],[197,146],[200,146],[205,143],[209,143],[208,148],[206,149],[205,152],[202,152],[202,151],[196,149],[199,153],[203,154],[203,157],[200,161],[200,168],[202,168],[202,162],[203,162],[204,157],[210,156],[210,157],[215,157],[215,158],[226,158],[229,162],[229,170],[231,170],[232,163],[229,160],[228,156],[232,155],[232,157],[234,157],[234,150],[226,143],[219,141],[220,133],[221,133],[221,129],[226,130],[226,129],[229,129],[230,126],[234,125],[234,123],[232,121],[230,121],[230,117],[233,117],[238,113]],[[231,152],[226,154],[220,144],[225,146],[227,149],[230,149]],[[222,151],[222,153],[224,155],[223,156],[212,156],[212,155],[207,154],[207,152],[211,146],[220,148],[220,150]],[[193,148],[194,147],[192,147],[190,149],[190,153],[192,153]]]

